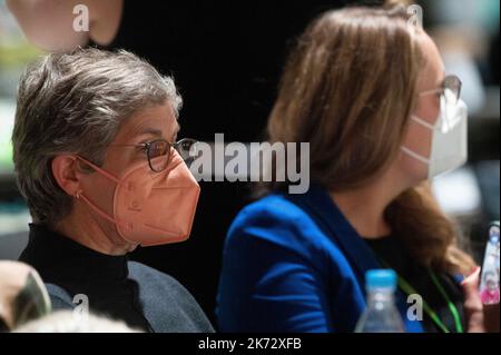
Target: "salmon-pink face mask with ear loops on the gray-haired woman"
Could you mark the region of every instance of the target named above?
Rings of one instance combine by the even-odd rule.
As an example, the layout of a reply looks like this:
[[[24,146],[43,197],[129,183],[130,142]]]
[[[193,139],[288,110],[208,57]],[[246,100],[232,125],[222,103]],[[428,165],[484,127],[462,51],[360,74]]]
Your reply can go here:
[[[175,149],[165,170],[154,172],[146,161],[134,166],[121,179],[79,156],[77,158],[117,184],[114,216],[84,194],[78,193],[76,197],[114,223],[125,240],[153,246],[188,239],[200,187]]]

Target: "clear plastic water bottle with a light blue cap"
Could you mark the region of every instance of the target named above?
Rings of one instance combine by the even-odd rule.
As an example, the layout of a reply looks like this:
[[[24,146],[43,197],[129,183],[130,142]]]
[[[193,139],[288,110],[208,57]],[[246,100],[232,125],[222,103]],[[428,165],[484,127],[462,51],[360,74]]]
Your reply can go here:
[[[356,333],[404,333],[405,327],[395,307],[396,274],[391,269],[365,274],[367,308],[356,324]]]

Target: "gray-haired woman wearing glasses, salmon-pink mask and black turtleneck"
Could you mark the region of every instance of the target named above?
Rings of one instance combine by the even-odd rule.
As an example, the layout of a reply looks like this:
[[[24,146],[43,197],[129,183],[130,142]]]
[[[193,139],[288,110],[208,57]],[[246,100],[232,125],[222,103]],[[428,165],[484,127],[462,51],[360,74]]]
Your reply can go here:
[[[13,159],[33,223],[20,259],[56,309],[213,332],[181,285],[127,258],[189,236],[199,187],[185,164],[194,141],[176,142],[180,105],[170,78],[125,51],[51,53],[21,77]]]

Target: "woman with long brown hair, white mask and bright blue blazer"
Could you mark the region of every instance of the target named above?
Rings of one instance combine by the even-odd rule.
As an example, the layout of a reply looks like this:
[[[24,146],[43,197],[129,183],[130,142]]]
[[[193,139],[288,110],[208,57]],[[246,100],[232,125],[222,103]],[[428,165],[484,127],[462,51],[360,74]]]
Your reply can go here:
[[[478,269],[428,186],[465,162],[460,91],[403,7],[346,8],[314,21],[289,56],[267,128],[271,142],[310,142],[313,184],[289,195],[274,181],[235,219],[220,331],[352,332],[365,307],[364,274],[382,267],[432,310],[406,319],[406,331],[481,329],[474,287],[460,285]],[[405,318],[405,293],[396,299]]]

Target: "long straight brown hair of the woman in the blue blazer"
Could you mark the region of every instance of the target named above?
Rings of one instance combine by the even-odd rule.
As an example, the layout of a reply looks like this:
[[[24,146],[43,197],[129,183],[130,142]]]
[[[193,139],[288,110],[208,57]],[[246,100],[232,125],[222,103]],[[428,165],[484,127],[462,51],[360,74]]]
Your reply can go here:
[[[331,191],[369,184],[400,152],[424,66],[420,30],[407,20],[401,6],[330,11],[288,58],[268,139],[310,142],[311,179]],[[404,191],[385,218],[424,265],[462,273],[473,267],[428,186]]]

